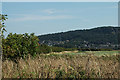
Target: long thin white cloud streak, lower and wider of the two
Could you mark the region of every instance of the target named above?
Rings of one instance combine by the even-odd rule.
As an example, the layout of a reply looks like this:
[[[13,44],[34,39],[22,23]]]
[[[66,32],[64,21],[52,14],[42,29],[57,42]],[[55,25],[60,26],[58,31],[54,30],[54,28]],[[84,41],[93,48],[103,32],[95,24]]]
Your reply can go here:
[[[70,15],[57,15],[57,16],[42,16],[42,15],[24,15],[19,18],[9,18],[10,22],[16,21],[35,21],[35,20],[59,20],[59,19],[72,19]]]

